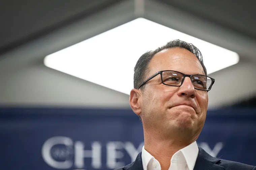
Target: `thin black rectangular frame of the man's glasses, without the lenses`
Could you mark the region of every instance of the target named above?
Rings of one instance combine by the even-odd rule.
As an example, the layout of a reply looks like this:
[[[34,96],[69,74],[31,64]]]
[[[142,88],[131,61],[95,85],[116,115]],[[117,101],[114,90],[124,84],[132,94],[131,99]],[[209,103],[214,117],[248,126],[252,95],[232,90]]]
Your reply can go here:
[[[162,80],[162,83],[163,83],[164,85],[166,85],[166,86],[175,86],[175,85],[165,84],[165,83],[163,82],[163,77],[162,77],[163,75],[162,75],[162,73],[163,73],[164,71],[174,71],[174,70],[162,70],[162,71],[156,72],[155,74],[153,74],[152,76],[150,76],[149,78],[147,78],[145,81],[143,81],[143,82],[140,84],[139,88],[141,88],[141,86],[145,85],[146,82],[148,82],[149,80],[151,80],[152,78],[154,78],[154,77],[157,76],[158,74],[161,75],[161,80]],[[174,72],[178,72],[178,73],[181,73],[181,74],[183,75],[183,79],[182,79],[182,81],[181,81],[181,85],[183,84],[183,81],[184,81],[185,77],[189,77],[190,80],[191,80],[191,77],[194,76],[194,75],[202,75],[202,76],[205,76],[205,77],[209,77],[209,76],[206,76],[206,75],[203,75],[203,74],[192,74],[192,75],[189,75],[189,74],[184,74],[184,73],[179,72],[179,71],[174,71]],[[210,87],[209,87],[207,90],[198,89],[198,88],[195,88],[195,87],[194,87],[194,88],[197,89],[197,90],[202,90],[202,91],[207,91],[207,92],[210,91],[210,90],[212,89],[212,86],[213,86],[214,82],[215,82],[215,79],[212,78],[212,77],[209,77],[209,78],[211,78],[212,83],[211,83]],[[191,82],[192,82],[192,80],[191,80]],[[181,85],[175,86],[175,87],[180,87]],[[139,90],[139,88],[138,88],[138,90]]]

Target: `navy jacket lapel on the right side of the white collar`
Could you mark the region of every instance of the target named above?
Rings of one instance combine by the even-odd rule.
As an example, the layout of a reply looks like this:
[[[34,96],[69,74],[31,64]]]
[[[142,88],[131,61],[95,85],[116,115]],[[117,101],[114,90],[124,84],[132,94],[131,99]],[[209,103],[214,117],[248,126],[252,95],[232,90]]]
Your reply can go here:
[[[218,165],[221,161],[218,158],[207,154],[202,148],[199,148],[194,170],[225,170],[223,166]]]

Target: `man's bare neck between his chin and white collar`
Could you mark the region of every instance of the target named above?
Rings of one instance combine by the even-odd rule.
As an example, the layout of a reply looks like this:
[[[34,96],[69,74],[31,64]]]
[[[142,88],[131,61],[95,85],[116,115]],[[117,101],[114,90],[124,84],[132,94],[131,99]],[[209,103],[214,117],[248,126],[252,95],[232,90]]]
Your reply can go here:
[[[193,143],[195,139],[184,140],[181,136],[163,137],[161,134],[144,131],[144,146],[161,165],[161,170],[168,170],[173,154]]]

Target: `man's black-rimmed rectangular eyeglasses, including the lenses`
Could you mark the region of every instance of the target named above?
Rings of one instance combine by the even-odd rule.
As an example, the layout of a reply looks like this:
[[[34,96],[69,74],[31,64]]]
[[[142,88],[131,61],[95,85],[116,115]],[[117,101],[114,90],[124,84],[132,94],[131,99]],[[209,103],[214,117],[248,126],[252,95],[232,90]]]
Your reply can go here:
[[[182,85],[185,77],[190,77],[194,88],[197,90],[203,90],[203,91],[211,90],[213,83],[215,81],[214,78],[211,78],[211,77],[208,77],[205,75],[201,75],[201,74],[189,75],[189,74],[183,74],[179,71],[163,70],[163,71],[156,72],[155,74],[150,76],[148,79],[143,81],[140,84],[139,88],[141,86],[143,86],[144,84],[146,84],[146,82],[148,82],[149,80],[151,80],[152,78],[157,76],[158,74],[161,75],[161,80],[162,80],[163,84],[165,84],[167,86],[177,86],[177,87]]]

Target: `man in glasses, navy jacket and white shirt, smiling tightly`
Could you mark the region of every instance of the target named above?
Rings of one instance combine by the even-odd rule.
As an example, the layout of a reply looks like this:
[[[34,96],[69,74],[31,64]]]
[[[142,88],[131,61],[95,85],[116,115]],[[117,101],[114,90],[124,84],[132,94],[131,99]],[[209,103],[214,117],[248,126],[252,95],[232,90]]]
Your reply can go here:
[[[214,81],[192,44],[174,40],[143,54],[129,102],[141,119],[144,147],[133,163],[117,170],[256,170],[197,147]]]

